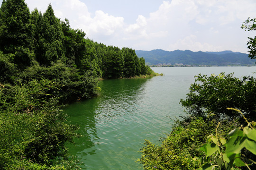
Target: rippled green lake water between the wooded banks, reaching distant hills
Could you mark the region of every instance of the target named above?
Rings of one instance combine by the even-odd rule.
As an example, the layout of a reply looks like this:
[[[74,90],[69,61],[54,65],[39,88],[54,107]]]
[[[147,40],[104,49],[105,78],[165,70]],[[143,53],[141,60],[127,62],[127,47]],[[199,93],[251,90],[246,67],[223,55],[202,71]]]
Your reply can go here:
[[[172,119],[185,115],[179,104],[194,76],[233,73],[256,75],[256,67],[152,68],[164,76],[100,81],[101,95],[64,108],[83,136],[69,145],[82,170],[143,170],[136,160],[144,139],[160,144]]]

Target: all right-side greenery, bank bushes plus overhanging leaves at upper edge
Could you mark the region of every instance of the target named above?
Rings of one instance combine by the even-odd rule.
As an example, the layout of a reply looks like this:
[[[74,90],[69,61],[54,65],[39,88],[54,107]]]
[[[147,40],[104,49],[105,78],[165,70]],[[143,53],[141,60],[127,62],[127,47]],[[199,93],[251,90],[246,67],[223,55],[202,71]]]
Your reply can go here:
[[[256,30],[255,20],[242,28]],[[247,44],[255,59],[256,36]],[[255,170],[256,78],[221,73],[195,81],[180,101],[188,115],[174,121],[160,146],[146,140],[138,161],[145,170]]]

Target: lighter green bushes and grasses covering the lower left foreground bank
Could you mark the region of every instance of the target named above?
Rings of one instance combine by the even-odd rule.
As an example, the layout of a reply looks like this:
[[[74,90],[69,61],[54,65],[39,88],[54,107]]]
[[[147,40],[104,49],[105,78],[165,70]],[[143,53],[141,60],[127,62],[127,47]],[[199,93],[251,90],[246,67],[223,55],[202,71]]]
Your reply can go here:
[[[76,126],[65,123],[66,115],[48,93],[59,87],[47,79],[0,85],[2,169],[46,170],[67,160],[65,144],[79,135]]]

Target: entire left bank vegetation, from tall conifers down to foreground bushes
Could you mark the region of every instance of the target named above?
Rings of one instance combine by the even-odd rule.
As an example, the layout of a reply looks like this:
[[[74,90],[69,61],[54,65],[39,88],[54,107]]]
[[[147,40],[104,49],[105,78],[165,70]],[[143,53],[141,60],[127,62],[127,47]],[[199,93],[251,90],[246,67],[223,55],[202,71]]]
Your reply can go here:
[[[99,93],[99,78],[154,75],[129,48],[85,38],[51,5],[30,13],[24,0],[0,8],[0,169],[74,170],[67,142],[78,127],[61,103]]]

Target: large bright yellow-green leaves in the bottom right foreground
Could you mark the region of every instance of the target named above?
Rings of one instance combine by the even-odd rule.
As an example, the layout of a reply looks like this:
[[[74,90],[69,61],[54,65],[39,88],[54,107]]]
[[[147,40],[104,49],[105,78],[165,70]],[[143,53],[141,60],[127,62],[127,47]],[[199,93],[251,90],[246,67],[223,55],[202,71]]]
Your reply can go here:
[[[232,130],[227,142],[226,139],[217,136],[217,129],[216,136],[208,136],[207,143],[200,149],[205,152],[201,156],[203,166],[200,170],[240,170],[239,167],[243,166],[250,170],[249,165],[256,161],[241,154],[241,150],[246,148],[256,155],[256,122],[247,123],[246,127]]]

